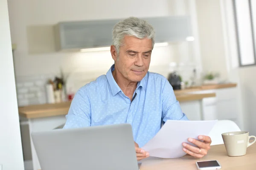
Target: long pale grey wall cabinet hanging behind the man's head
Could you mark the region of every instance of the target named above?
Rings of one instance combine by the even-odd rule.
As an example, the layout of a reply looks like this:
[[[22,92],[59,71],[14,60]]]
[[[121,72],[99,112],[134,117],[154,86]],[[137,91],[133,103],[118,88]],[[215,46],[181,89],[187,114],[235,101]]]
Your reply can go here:
[[[162,16],[143,18],[156,32],[155,43],[186,41],[192,36],[189,16]],[[113,26],[121,19],[64,21],[55,25],[58,51],[81,48],[108,47],[112,44]]]

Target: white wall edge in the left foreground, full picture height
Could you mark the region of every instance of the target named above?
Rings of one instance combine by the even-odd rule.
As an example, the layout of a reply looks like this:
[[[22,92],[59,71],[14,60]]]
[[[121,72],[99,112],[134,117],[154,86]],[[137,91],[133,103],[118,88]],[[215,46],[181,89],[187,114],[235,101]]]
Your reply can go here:
[[[7,0],[0,0],[0,164],[24,170]]]

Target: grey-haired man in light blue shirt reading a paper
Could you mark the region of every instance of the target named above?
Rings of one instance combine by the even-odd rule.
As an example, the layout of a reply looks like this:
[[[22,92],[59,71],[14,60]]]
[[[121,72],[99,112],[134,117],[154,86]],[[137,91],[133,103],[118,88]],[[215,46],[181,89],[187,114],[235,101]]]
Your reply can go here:
[[[148,72],[154,34],[150,24],[136,17],[114,26],[111,45],[114,65],[106,75],[77,91],[64,128],[129,123],[137,160],[141,160],[149,153],[140,147],[157,134],[162,120],[187,120],[167,79]],[[201,158],[207,154],[211,139],[209,136],[198,139],[188,139],[198,147],[183,143],[183,150]]]

